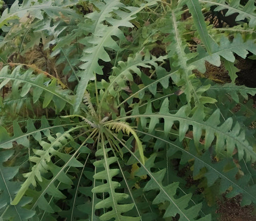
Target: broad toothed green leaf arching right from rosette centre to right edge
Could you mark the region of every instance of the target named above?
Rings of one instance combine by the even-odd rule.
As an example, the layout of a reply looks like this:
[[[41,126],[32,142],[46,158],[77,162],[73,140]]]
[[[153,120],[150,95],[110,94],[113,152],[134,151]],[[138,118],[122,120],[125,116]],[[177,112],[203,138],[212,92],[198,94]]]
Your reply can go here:
[[[179,109],[176,114],[170,114],[169,109],[164,109],[167,107],[166,103],[168,98],[163,102],[164,107],[161,108],[161,113],[152,113],[150,109],[147,109],[146,113],[142,115],[133,114],[130,117],[136,118],[150,118],[154,119],[154,122],[157,119],[163,118],[165,124],[170,124],[170,122],[179,121],[180,123],[180,140],[183,140],[184,135],[191,125],[193,126],[193,134],[195,133],[196,140],[199,141],[200,134],[205,131],[205,148],[209,148],[214,138],[217,138],[216,150],[217,153],[220,153],[220,150],[227,150],[227,156],[231,157],[234,148],[238,149],[239,160],[245,157],[246,162],[255,161],[256,153],[253,148],[249,145],[248,141],[245,138],[244,131],[241,129],[241,126],[238,122],[233,124],[232,118],[228,118],[223,124],[220,124],[219,117],[220,111],[217,109],[207,120],[204,120],[204,113],[202,106],[201,108],[196,109],[195,114],[192,117],[188,117],[187,113],[189,108],[183,106]],[[137,111],[138,113],[138,111]],[[126,119],[128,117],[121,117],[119,119]],[[150,123],[149,123],[150,125]],[[154,123],[155,125],[155,123]],[[153,127],[152,127],[153,128]],[[152,130],[151,128],[151,130]],[[166,129],[170,129],[170,125],[165,126]],[[194,132],[195,131],[195,132]],[[165,133],[168,133],[166,130]],[[244,156],[245,153],[245,156]]]

